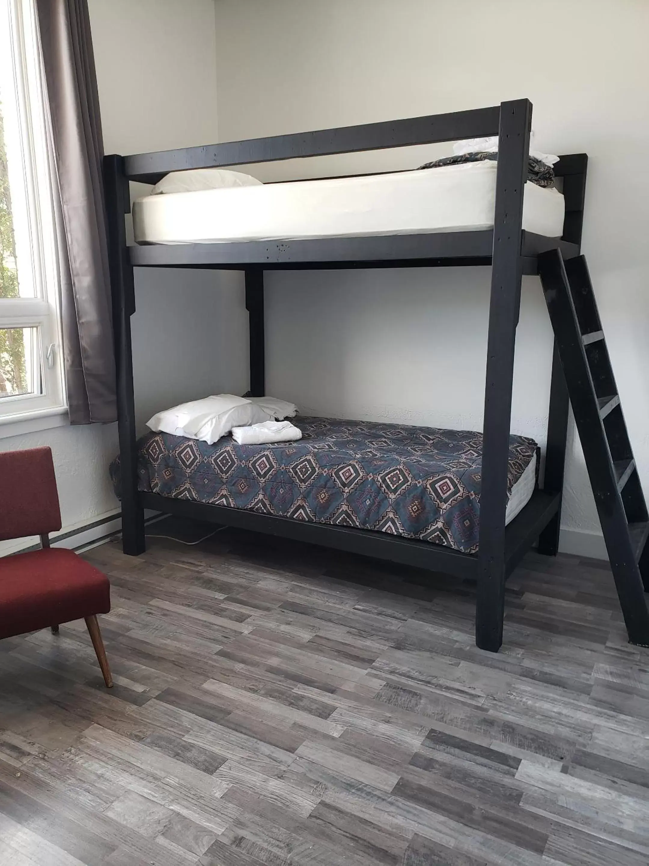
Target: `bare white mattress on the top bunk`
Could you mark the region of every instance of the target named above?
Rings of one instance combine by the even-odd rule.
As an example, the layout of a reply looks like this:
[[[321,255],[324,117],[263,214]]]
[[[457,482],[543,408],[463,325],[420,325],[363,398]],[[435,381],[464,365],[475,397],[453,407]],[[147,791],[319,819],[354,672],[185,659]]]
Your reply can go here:
[[[497,164],[291,181],[138,198],[138,243],[215,243],[491,229]],[[525,184],[523,228],[561,237],[564,202]]]

